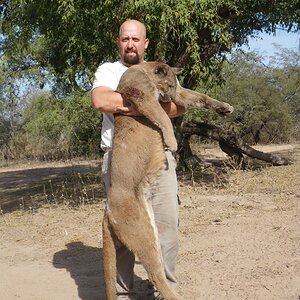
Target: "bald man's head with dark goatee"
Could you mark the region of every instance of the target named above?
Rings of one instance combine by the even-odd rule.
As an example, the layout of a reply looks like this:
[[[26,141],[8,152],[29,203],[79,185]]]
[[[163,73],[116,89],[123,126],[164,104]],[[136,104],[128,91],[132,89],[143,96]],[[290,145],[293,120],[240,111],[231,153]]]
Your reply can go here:
[[[117,38],[121,62],[130,67],[144,60],[144,52],[148,47],[145,27],[142,23],[128,21],[122,24]]]

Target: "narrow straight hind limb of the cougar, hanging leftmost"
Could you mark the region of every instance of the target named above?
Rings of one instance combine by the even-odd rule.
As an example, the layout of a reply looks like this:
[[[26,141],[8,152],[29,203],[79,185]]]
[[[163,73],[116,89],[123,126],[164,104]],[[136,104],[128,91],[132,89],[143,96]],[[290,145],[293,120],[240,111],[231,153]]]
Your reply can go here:
[[[102,223],[103,232],[103,265],[107,300],[116,298],[116,247],[112,228],[105,213]]]

